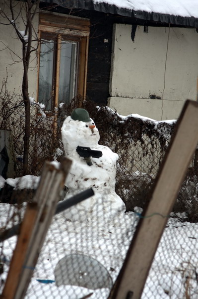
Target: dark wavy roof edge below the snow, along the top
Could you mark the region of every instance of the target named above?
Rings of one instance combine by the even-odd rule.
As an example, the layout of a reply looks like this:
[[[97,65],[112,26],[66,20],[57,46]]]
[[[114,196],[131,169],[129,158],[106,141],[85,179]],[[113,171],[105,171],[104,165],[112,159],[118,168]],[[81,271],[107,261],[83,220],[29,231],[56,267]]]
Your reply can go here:
[[[94,3],[92,0],[41,0],[49,4],[58,4],[66,8],[81,8],[86,10],[96,10],[115,15],[122,15],[125,17],[132,17],[136,19],[155,21],[171,25],[180,25],[198,28],[198,18],[175,16],[172,14],[163,14],[156,12],[146,12],[140,10],[130,10],[126,8],[119,8],[116,5],[109,5],[104,2]]]

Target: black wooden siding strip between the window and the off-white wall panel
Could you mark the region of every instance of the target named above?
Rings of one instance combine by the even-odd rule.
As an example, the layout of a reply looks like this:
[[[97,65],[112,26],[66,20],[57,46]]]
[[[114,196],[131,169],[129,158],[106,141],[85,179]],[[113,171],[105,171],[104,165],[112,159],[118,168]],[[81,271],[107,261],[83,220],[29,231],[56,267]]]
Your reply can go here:
[[[90,22],[86,94],[104,106],[109,97],[113,23],[104,14],[90,17]]]

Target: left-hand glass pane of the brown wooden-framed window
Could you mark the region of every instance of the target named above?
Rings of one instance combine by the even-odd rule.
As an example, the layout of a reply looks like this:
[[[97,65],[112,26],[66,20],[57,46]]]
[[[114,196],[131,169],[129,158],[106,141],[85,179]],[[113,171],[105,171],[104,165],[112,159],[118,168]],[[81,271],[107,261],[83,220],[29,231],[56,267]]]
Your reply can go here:
[[[39,67],[39,94],[38,102],[43,103],[47,110],[52,109],[54,41],[41,43]]]

